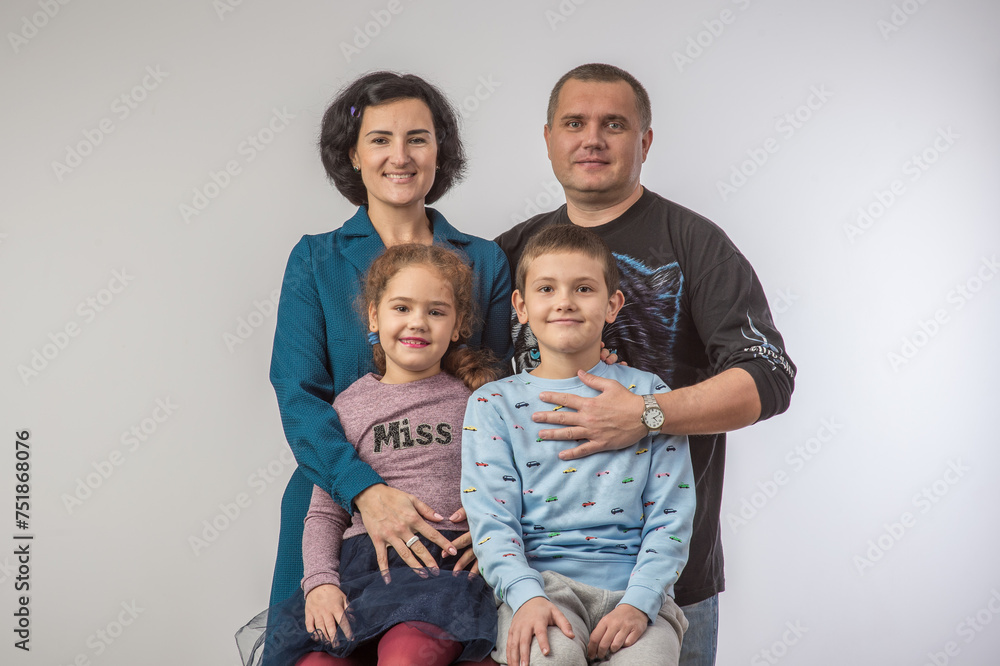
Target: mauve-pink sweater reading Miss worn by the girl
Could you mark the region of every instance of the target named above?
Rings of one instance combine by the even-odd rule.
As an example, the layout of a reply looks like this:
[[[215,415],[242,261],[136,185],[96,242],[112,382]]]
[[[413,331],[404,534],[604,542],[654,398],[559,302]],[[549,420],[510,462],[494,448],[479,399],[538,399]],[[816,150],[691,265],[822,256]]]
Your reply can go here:
[[[447,520],[462,506],[462,421],[469,389],[441,372],[408,384],[383,384],[368,374],[333,402],[361,460],[385,482],[426,502],[445,520],[438,530],[468,531],[466,522]],[[313,487],[302,535],[305,575],[302,591],[340,583],[340,546],[366,534],[361,514],[350,516],[330,495]]]

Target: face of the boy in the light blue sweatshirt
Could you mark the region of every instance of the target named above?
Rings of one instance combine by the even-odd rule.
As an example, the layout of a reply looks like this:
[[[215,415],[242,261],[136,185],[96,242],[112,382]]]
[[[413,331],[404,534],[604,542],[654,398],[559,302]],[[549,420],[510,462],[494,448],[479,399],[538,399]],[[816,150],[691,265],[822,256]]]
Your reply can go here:
[[[545,363],[547,353],[599,354],[604,324],[615,320],[625,297],[608,294],[600,260],[557,252],[529,264],[524,293],[515,291],[512,300],[518,321],[531,324]]]

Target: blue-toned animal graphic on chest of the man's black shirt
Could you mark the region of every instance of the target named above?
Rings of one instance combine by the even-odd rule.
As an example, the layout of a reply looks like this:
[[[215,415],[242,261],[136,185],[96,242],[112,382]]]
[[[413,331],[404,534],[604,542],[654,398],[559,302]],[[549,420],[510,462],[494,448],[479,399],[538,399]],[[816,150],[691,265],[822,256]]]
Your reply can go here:
[[[674,341],[680,314],[684,276],[677,262],[649,268],[627,254],[615,253],[621,271],[621,290],[625,305],[617,319],[604,327],[604,346],[608,349],[644,349],[645,367],[655,367],[662,379],[671,384]],[[539,363],[538,341],[531,326],[521,325],[511,310],[514,337],[514,360],[518,371],[530,370]],[[635,365],[633,359],[623,359]],[[666,376],[664,376],[666,374]]]

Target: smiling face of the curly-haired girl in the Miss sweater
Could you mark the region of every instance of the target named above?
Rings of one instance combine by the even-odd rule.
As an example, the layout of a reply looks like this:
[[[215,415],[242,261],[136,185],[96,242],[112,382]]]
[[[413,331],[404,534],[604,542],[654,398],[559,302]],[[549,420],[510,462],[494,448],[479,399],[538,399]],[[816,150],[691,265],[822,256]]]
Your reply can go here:
[[[407,266],[386,285],[382,300],[368,305],[368,323],[385,351],[387,384],[441,372],[441,357],[458,340],[458,313],[451,285],[430,266]]]

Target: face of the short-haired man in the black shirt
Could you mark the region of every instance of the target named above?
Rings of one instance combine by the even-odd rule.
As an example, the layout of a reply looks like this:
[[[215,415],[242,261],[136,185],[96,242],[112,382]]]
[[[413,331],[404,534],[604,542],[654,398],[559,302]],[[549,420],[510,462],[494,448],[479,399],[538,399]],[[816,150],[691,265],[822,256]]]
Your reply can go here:
[[[652,140],[625,81],[568,80],[545,126],[552,171],[580,206],[614,205],[635,192]]]

